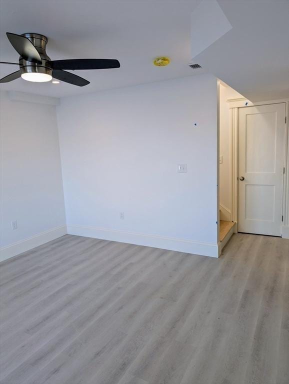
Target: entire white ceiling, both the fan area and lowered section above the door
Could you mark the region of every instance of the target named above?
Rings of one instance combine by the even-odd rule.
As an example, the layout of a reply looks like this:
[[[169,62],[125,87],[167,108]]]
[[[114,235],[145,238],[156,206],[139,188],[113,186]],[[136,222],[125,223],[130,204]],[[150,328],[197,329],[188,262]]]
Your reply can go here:
[[[18,58],[5,32],[36,32],[48,37],[51,59],[117,58],[121,64],[119,69],[74,71],[91,82],[85,87],[17,79],[1,89],[66,96],[208,71],[250,100],[288,97],[289,1],[218,3],[232,28],[192,60],[190,44],[201,46],[204,36],[199,28],[190,40],[200,0],[1,0],[1,61]],[[168,55],[171,63],[153,66],[157,55]],[[193,71],[187,66],[191,61],[203,69]],[[15,70],[1,64],[0,76]]]

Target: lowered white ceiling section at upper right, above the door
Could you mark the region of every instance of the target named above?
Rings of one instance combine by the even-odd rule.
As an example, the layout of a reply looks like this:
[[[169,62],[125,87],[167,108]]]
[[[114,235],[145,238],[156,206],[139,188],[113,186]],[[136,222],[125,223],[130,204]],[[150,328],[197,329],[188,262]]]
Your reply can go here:
[[[218,4],[232,28],[195,61],[251,101],[288,98],[289,1],[218,0]]]

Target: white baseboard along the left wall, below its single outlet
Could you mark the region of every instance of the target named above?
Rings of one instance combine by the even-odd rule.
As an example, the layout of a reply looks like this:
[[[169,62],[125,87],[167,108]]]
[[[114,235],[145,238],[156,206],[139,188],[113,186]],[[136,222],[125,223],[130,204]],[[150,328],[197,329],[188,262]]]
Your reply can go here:
[[[17,241],[14,244],[3,246],[0,248],[0,261],[25,252],[26,250],[35,248],[35,246],[42,245],[45,242],[54,240],[55,238],[63,236],[63,234],[66,233],[66,225],[61,225],[56,228],[46,230],[45,232],[35,234],[34,236],[25,238],[24,240]]]

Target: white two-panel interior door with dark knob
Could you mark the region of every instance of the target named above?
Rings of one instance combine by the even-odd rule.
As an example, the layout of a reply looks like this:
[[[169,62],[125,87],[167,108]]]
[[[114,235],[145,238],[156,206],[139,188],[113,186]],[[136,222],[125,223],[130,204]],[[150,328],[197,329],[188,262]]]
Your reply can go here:
[[[238,231],[281,235],[285,103],[238,112]]]

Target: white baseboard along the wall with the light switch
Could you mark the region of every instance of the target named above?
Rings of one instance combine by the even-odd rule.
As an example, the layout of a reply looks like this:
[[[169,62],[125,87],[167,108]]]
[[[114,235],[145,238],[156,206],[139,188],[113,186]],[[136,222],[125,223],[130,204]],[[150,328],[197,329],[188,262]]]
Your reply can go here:
[[[129,244],[151,246],[154,248],[176,250],[203,256],[218,257],[217,244],[199,242],[174,237],[164,237],[152,234],[126,232],[122,230],[96,228],[86,225],[67,225],[67,233],[78,236],[101,238]]]

